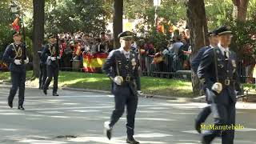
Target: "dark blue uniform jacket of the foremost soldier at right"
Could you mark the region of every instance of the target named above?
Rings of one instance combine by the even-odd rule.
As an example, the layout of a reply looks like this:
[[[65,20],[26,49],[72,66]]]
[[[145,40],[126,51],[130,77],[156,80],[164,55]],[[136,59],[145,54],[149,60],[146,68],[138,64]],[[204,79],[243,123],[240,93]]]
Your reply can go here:
[[[210,91],[213,84],[217,82],[214,65],[214,50],[216,52],[215,54],[219,81],[222,82],[226,78],[231,80],[230,86],[225,86],[222,84],[223,90],[220,94],[214,96],[214,102],[228,104],[231,99],[231,101],[235,103],[236,94],[234,90],[240,90],[240,82],[238,76],[237,56],[233,51],[229,52],[230,56],[228,61],[226,61],[224,55],[218,47],[206,50],[206,52],[202,55],[200,65],[198,66],[198,78],[204,83],[204,88]],[[211,94],[215,95],[214,93]]]

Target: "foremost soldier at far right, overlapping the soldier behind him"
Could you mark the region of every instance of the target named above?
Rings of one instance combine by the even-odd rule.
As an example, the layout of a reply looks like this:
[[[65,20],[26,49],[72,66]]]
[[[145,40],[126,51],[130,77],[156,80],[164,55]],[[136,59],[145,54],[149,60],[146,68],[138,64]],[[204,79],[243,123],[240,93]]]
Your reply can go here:
[[[214,115],[214,126],[234,126],[235,124],[235,90],[241,93],[237,71],[236,54],[230,50],[232,32],[229,27],[218,28],[216,34],[219,42],[217,48],[206,50],[198,66],[198,78],[204,84],[208,101]],[[222,144],[234,143],[234,130],[209,130],[202,134],[202,143],[208,144],[218,135]]]

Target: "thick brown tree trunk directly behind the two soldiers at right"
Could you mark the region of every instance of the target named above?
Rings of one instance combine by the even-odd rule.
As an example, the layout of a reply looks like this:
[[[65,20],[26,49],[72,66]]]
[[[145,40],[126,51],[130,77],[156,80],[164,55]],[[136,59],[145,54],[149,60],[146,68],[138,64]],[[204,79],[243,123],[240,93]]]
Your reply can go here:
[[[187,18],[190,27],[190,45],[192,48],[191,59],[198,53],[198,50],[202,46],[208,45],[208,39],[206,38],[207,33],[207,22],[206,22],[206,10],[205,3],[203,0],[188,0],[186,2],[187,7]],[[197,74],[192,70],[192,86],[194,95],[200,94],[200,82]]]

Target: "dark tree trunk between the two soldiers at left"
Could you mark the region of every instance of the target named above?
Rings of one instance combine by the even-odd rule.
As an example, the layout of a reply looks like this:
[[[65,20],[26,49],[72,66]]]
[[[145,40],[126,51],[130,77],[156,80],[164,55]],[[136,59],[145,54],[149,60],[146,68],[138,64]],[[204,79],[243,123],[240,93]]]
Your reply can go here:
[[[44,22],[45,22],[45,0],[33,0],[33,72],[34,77],[39,76],[39,56],[38,51],[42,48],[42,41],[44,36]]]

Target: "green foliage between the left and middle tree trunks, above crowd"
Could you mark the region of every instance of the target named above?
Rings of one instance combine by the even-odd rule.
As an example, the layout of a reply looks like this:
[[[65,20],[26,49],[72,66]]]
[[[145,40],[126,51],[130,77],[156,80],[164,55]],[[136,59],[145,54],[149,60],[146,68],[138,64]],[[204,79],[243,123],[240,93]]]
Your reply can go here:
[[[106,29],[107,8],[103,0],[63,0],[46,3],[46,32],[99,33]]]

